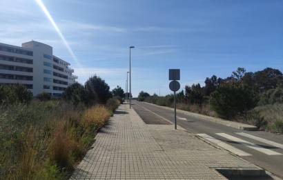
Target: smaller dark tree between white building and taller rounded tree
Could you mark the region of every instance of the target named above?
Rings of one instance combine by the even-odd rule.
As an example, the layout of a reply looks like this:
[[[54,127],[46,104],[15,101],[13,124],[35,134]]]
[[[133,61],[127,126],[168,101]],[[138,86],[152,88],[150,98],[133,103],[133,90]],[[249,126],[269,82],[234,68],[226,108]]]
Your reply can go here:
[[[62,97],[66,101],[71,101],[75,105],[78,103],[86,103],[86,90],[80,83],[73,83],[66,88]]]

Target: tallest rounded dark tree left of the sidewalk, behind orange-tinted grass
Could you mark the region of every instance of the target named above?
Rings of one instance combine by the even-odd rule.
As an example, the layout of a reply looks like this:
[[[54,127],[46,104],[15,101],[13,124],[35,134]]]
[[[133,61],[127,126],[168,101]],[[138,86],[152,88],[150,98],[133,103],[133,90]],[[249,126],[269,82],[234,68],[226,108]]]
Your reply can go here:
[[[90,77],[85,84],[86,89],[86,99],[87,103],[92,105],[95,103],[106,103],[106,101],[111,97],[110,87],[108,84],[98,77],[94,75]]]

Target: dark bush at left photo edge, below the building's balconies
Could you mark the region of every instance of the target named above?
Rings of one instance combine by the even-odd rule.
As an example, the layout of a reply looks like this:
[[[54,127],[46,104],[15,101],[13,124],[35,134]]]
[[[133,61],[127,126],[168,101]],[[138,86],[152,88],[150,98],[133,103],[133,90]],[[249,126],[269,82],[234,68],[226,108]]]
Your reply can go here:
[[[29,103],[32,92],[20,84],[0,85],[0,104],[10,105],[15,103]]]

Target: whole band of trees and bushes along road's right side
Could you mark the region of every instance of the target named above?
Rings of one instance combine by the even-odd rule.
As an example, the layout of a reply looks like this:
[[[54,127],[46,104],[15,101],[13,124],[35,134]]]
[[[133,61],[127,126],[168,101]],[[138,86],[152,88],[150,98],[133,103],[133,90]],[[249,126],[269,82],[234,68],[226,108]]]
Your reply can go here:
[[[260,130],[283,133],[283,74],[280,70],[265,68],[246,72],[237,68],[224,79],[207,77],[205,86],[199,83],[186,86],[177,93],[177,108],[240,121]],[[173,107],[173,94],[159,97],[140,92],[139,101]]]

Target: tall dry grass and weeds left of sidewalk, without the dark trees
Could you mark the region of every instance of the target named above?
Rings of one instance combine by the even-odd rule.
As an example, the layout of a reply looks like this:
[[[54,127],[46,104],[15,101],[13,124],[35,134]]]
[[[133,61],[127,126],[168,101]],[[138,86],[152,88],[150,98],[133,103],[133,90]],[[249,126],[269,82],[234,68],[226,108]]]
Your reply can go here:
[[[111,110],[64,101],[0,107],[0,179],[66,179]]]

